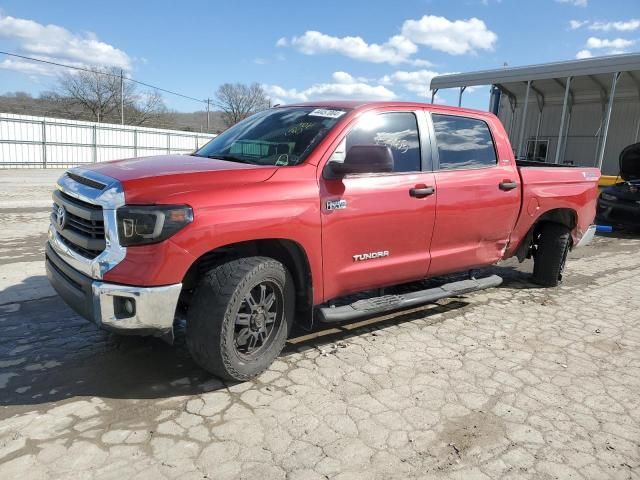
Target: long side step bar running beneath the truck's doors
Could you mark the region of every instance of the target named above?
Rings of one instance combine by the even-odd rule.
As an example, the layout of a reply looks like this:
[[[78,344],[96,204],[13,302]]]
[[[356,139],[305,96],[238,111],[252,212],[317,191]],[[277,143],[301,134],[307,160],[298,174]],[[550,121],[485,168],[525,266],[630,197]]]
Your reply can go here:
[[[436,288],[418,290],[417,292],[402,295],[383,295],[381,297],[358,300],[350,305],[342,307],[323,307],[317,310],[318,320],[322,323],[336,323],[350,320],[358,320],[364,317],[372,317],[395,310],[417,307],[425,303],[434,302],[442,298],[462,295],[485,288],[497,287],[502,283],[498,275],[490,277],[461,280],[459,282],[445,283]]]

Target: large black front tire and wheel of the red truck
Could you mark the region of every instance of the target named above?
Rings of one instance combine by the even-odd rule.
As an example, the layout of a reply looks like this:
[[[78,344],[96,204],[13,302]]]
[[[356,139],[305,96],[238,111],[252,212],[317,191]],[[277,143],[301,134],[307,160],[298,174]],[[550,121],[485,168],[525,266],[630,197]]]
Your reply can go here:
[[[285,345],[294,298],[291,275],[272,258],[239,258],[212,268],[200,279],[187,313],[191,356],[226,380],[255,377]]]

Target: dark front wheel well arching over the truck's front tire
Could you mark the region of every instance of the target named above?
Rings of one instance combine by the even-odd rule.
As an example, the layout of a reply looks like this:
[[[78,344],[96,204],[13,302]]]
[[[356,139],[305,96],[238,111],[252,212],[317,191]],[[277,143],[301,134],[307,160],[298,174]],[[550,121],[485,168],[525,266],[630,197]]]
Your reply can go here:
[[[313,305],[313,282],[309,260],[300,244],[287,239],[261,239],[234,243],[205,253],[191,265],[182,281],[184,297],[182,300],[189,303],[198,279],[211,268],[230,259],[257,255],[273,258],[287,267],[295,285],[296,310],[310,312]]]

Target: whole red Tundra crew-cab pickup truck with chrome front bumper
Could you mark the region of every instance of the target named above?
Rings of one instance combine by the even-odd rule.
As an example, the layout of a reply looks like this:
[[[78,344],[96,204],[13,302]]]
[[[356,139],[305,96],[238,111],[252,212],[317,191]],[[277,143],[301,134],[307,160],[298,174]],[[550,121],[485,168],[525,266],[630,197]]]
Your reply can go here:
[[[84,317],[173,339],[257,375],[294,321],[352,320],[496,286],[383,287],[533,257],[555,286],[594,235],[600,172],[516,162],[491,114],[399,102],[279,106],[192,155],[74,168],[58,181],[49,279]],[[354,292],[368,298],[345,304]],[[373,293],[371,293],[373,292]]]

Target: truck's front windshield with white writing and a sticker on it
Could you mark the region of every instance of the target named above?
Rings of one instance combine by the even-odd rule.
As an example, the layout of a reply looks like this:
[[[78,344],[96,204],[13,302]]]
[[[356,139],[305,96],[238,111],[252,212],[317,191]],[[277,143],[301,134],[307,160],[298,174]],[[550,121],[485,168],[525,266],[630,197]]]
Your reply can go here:
[[[194,155],[256,165],[299,165],[345,113],[344,109],[272,108],[234,125]]]

